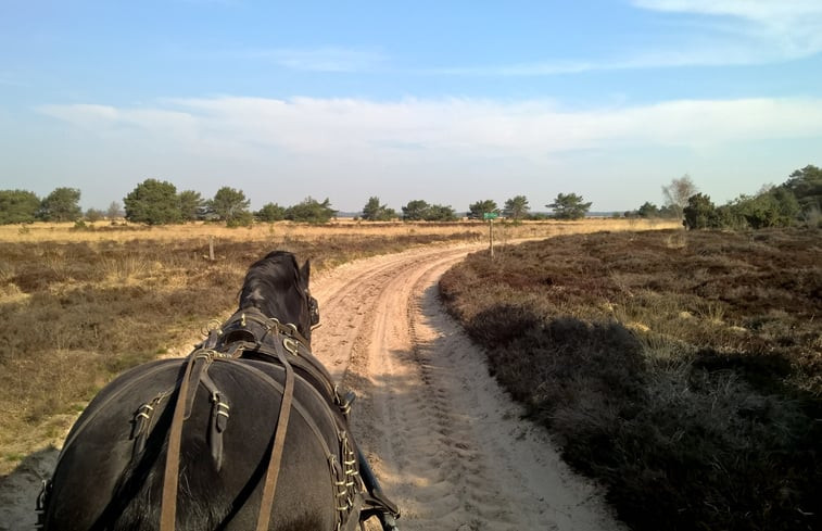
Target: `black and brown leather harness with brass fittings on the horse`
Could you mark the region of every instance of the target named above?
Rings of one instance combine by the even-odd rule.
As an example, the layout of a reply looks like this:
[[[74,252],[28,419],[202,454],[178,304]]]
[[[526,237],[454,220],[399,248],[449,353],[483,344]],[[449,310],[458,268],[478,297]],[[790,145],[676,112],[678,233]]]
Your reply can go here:
[[[294,409],[314,432],[328,457],[334,496],[337,498],[337,530],[343,529],[343,524],[349,520],[349,516],[354,509],[365,511],[363,514],[378,516],[384,529],[396,529],[393,522],[400,516],[399,509],[382,494],[368,463],[363,460],[364,458],[358,451],[355,453],[352,441],[349,439],[346,427],[333,419],[333,415],[330,413],[331,407],[328,410],[329,416],[332,417],[332,421],[337,426],[337,437],[340,444],[340,447],[337,450],[341,455],[340,460],[337,459],[337,452],[332,452],[328,446],[321,430],[312,415],[308,414],[300,402],[294,401],[294,382],[296,375],[299,375],[308,383],[306,388],[311,392],[317,393],[318,399],[321,399],[329,406],[336,406],[343,416],[347,417],[351,402],[353,402],[353,393],[347,393],[345,396],[339,394],[337,385],[332,384],[331,376],[323,364],[314,357],[307,344],[308,341],[300,334],[294,325],[283,325],[276,318],[266,317],[256,308],[238,311],[222,327],[212,328],[207,331],[205,341],[197,345],[195,350],[188,355],[184,375],[173,389],[160,393],[151,402],[138,408],[131,432],[131,439],[135,441],[134,458],[137,458],[144,448],[147,438],[152,429],[154,409],[162,401],[174,395],[175,391],[177,391],[163,473],[160,531],[174,531],[175,529],[182,426],[191,415],[194,395],[200,384],[204,385],[211,394],[213,406],[208,444],[211,445],[212,456],[215,459],[217,469],[222,466],[223,431],[227,426],[230,407],[226,396],[223,395],[216,383],[208,376],[208,367],[215,362],[237,362],[239,359],[277,362],[284,370],[284,384],[281,384],[270,375],[251,364],[238,363],[236,365],[238,369],[246,371],[249,376],[256,376],[282,396],[275,426],[274,440],[270,445],[270,457],[263,483],[263,495],[255,531],[267,530],[270,522],[289,418],[291,412]],[[134,384],[138,384],[139,381],[143,381],[146,378],[153,377],[166,367],[162,365],[149,369]],[[117,400],[131,389],[131,384],[124,385],[114,392],[106,402]],[[73,430],[73,437],[66,440],[63,452],[65,452],[101,409],[102,407],[92,412],[81,425]],[[60,457],[62,457],[63,452],[61,452]],[[361,471],[364,473],[362,477]],[[38,519],[42,518],[50,493],[50,484],[48,482],[43,483],[43,490],[38,497],[37,504]],[[363,514],[361,514],[361,517]],[[38,527],[41,527],[41,523],[42,521],[38,522]],[[345,529],[347,529],[347,526]]]

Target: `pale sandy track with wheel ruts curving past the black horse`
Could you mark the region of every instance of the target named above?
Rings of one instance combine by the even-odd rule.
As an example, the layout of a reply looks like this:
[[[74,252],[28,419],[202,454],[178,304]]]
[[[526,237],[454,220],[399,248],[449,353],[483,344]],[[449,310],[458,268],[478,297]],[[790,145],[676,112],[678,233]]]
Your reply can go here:
[[[312,282],[323,321],[313,351],[358,395],[352,431],[401,507],[400,529],[621,529],[545,431],[520,419],[482,353],[440,307],[438,279],[480,246],[362,260]],[[38,453],[2,480],[0,530],[33,529],[54,458]]]

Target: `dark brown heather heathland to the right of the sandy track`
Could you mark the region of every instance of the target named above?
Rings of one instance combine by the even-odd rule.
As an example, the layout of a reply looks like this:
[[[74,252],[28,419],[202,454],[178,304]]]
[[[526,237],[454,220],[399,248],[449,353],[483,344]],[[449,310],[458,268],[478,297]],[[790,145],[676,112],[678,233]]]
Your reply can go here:
[[[822,528],[819,230],[560,236],[441,292],[631,528]]]

